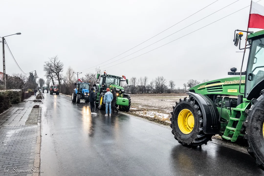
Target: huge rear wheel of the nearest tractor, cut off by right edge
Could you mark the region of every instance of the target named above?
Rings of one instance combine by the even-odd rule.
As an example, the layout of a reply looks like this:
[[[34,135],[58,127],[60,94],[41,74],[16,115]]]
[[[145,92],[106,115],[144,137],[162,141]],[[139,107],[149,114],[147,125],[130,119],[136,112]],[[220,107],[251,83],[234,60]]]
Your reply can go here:
[[[258,99],[252,99],[252,105],[246,110],[246,138],[248,153],[256,159],[256,164],[264,170],[264,90]]]

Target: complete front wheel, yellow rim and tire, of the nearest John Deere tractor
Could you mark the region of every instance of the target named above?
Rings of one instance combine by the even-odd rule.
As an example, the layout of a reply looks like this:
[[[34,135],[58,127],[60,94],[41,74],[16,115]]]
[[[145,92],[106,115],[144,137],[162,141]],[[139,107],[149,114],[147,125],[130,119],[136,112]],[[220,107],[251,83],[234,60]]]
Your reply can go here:
[[[185,97],[179,103],[176,102],[171,115],[171,132],[180,144],[196,147],[211,141],[212,135],[203,132],[201,108],[193,97]]]

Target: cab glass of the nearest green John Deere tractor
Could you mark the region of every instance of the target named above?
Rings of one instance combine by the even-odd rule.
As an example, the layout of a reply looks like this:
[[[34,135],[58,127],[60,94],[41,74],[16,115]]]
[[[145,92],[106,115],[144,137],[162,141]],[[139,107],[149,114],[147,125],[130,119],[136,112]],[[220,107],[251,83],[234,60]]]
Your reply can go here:
[[[246,96],[264,78],[264,38],[253,40],[246,79]]]

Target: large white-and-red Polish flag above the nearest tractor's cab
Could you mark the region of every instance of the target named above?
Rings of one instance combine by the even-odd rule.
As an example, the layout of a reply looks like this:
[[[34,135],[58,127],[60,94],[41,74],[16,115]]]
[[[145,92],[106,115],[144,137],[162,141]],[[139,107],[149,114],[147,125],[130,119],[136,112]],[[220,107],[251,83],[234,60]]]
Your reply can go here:
[[[264,7],[251,1],[248,28],[264,29]]]

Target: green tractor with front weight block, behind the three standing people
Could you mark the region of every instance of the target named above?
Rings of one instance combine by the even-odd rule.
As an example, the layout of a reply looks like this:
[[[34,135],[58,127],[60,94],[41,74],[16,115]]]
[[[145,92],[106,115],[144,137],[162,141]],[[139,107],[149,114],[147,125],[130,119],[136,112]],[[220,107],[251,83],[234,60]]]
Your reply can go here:
[[[103,104],[103,98],[106,93],[106,89],[112,88],[116,92],[116,106],[119,105],[120,111],[128,112],[131,106],[131,98],[129,94],[125,94],[125,89],[120,86],[120,82],[125,81],[128,84],[128,79],[122,80],[124,76],[118,77],[114,75],[109,75],[104,72],[103,75],[97,74],[97,79],[101,76],[100,83],[94,84],[93,88],[95,89],[96,96],[96,107],[99,107],[100,110],[105,110],[105,104]]]

